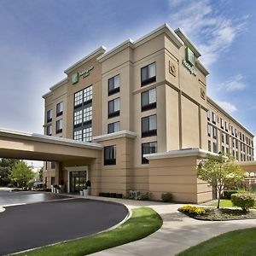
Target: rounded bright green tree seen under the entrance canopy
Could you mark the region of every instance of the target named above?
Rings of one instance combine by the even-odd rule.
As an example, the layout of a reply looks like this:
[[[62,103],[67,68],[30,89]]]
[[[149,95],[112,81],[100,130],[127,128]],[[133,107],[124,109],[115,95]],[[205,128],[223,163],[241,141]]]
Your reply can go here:
[[[32,168],[27,166],[23,160],[20,160],[12,168],[11,177],[17,183],[18,187],[26,187],[27,183],[34,177]]]

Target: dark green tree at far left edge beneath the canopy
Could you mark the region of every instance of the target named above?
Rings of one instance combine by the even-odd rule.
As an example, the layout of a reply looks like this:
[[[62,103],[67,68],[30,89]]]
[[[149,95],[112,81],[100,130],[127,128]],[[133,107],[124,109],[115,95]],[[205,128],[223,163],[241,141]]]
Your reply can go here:
[[[11,170],[20,160],[2,158],[0,160],[0,186],[7,186],[11,181]]]

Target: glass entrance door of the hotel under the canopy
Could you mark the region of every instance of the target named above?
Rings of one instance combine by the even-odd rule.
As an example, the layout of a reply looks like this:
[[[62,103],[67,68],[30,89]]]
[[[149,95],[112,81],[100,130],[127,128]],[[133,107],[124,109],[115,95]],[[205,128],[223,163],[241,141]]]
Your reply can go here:
[[[70,193],[79,193],[81,189],[85,189],[86,171],[69,172],[70,177]]]

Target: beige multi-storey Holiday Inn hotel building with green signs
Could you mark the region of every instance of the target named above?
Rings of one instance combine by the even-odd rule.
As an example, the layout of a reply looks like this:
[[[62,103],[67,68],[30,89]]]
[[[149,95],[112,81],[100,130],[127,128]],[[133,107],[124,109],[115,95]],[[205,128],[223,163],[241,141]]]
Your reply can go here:
[[[253,134],[207,96],[201,53],[166,24],[137,41],[100,47],[68,67],[45,94],[45,135],[83,143],[96,153],[44,163],[44,183],[92,195],[149,192],[159,200],[212,199],[195,166],[210,152],[253,160]],[[210,151],[210,152],[208,152]]]

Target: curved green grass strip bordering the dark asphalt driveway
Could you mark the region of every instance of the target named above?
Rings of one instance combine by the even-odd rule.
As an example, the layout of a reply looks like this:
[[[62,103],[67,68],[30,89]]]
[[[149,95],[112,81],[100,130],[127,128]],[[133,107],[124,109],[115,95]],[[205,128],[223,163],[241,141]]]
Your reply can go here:
[[[159,230],[162,224],[162,218],[153,209],[137,208],[132,210],[131,218],[114,230],[15,255],[87,255],[142,239]]]

